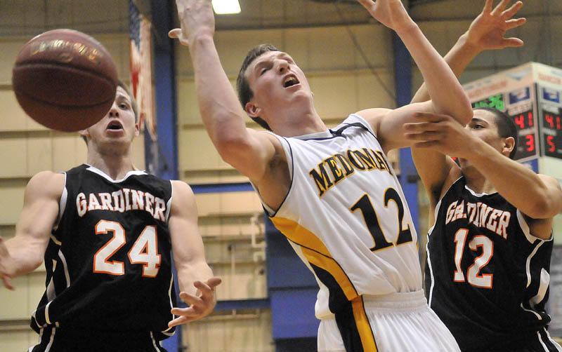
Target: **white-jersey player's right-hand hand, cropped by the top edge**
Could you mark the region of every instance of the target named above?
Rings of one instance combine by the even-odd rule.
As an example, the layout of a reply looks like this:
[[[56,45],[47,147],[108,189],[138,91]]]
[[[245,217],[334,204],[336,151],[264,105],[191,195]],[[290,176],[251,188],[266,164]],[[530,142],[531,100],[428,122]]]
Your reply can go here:
[[[414,24],[400,0],[358,0],[373,18],[400,33]]]

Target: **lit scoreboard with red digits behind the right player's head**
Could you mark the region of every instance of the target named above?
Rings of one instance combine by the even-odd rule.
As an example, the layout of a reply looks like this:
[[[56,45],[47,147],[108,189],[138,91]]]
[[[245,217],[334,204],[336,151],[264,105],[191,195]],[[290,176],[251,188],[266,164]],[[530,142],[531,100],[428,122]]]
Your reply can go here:
[[[473,107],[494,107],[514,119],[516,160],[562,160],[562,69],[530,62],[464,85]]]

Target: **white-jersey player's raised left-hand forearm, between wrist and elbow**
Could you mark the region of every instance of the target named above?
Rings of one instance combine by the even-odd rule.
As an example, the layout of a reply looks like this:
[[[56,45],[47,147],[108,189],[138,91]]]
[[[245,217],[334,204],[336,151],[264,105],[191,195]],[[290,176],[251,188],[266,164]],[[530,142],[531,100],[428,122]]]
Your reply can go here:
[[[190,55],[202,120],[220,152],[221,142],[247,133],[240,102],[221,66],[212,36],[190,42]]]

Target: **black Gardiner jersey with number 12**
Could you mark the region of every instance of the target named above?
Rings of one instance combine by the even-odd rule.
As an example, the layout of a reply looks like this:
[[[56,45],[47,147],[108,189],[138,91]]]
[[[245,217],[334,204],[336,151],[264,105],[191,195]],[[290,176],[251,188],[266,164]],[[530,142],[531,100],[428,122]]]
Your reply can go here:
[[[523,215],[499,194],[476,194],[460,177],[429,230],[426,297],[462,351],[518,351],[550,322],[553,241],[530,235]]]

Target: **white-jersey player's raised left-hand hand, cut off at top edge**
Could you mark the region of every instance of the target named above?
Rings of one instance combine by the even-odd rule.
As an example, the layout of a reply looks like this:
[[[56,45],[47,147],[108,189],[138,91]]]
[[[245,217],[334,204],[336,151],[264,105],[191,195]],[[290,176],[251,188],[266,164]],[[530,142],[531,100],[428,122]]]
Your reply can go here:
[[[200,35],[213,36],[215,32],[215,16],[211,0],[176,0],[181,29],[172,29],[168,36],[179,39],[188,46]]]

